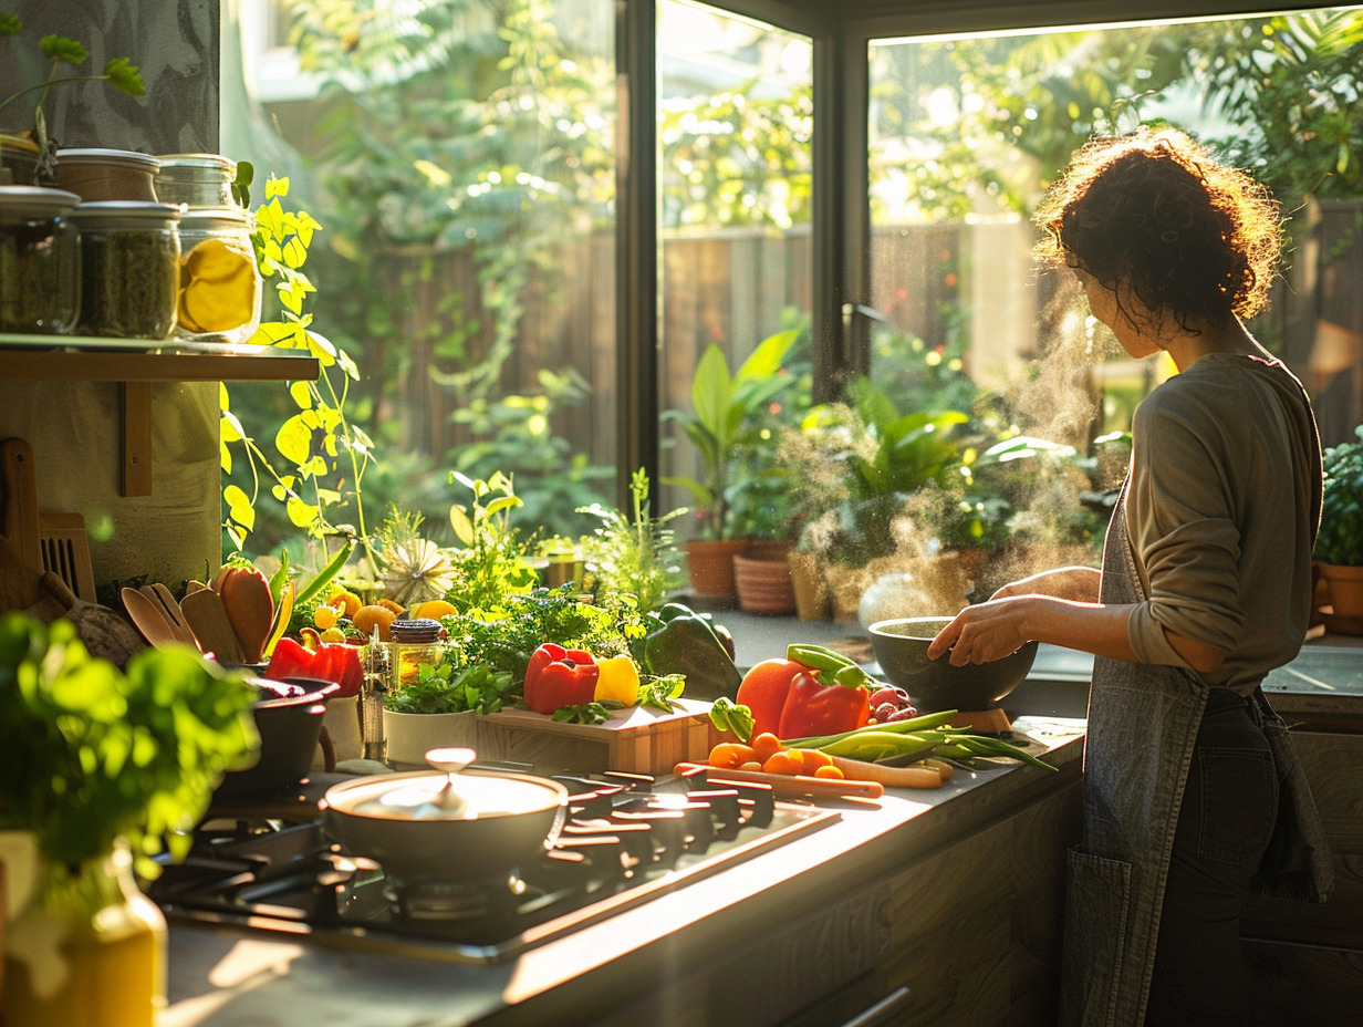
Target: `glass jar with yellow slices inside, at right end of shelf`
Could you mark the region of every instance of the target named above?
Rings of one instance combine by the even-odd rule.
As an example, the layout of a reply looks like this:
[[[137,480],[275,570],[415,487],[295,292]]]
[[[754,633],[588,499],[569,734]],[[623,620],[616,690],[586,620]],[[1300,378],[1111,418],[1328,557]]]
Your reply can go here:
[[[241,207],[189,207],[180,215],[176,337],[245,342],[260,325],[260,270]]]

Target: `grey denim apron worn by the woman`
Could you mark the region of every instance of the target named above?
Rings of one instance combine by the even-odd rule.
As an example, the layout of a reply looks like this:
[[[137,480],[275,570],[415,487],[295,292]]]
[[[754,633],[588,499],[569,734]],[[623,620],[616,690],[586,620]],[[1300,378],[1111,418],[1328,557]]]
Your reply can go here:
[[[1103,550],[1103,603],[1145,600],[1126,490]],[[1084,743],[1084,836],[1069,852],[1062,1027],[1138,1027],[1183,784],[1208,686],[1178,667],[1096,657]]]

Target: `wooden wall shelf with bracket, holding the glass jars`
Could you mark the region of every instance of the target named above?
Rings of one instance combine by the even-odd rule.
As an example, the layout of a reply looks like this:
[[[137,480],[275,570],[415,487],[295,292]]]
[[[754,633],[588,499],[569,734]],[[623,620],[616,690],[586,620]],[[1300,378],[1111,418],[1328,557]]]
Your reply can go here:
[[[157,382],[316,381],[316,357],[270,346],[86,336],[0,334],[0,381],[117,382],[123,495],[151,495],[151,387]]]

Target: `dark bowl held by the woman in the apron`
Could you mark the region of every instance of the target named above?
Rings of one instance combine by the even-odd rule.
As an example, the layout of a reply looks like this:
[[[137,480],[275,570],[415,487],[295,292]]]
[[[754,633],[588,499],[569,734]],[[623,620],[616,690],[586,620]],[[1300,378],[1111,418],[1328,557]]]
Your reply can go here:
[[[902,616],[871,625],[871,649],[880,672],[908,691],[923,712],[996,706],[1032,670],[1036,642],[1002,660],[953,667],[946,656],[935,660],[927,656],[928,644],[949,623],[950,616]]]

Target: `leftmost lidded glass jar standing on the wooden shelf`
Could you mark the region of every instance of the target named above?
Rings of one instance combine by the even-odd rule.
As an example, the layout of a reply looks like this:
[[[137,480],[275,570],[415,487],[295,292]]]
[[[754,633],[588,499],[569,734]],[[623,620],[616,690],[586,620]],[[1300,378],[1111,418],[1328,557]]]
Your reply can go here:
[[[63,190],[0,190],[0,331],[67,334],[80,303],[80,250]]]

